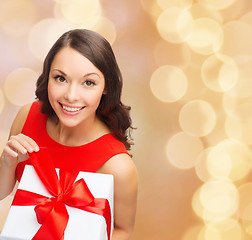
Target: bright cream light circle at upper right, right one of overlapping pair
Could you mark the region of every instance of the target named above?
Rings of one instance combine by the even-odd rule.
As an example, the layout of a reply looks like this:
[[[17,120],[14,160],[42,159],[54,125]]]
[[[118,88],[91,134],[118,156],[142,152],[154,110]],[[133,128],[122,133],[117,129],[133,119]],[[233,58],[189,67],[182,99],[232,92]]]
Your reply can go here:
[[[217,52],[222,46],[223,33],[218,22],[210,18],[198,18],[194,21],[194,30],[187,43],[193,51],[203,55]]]

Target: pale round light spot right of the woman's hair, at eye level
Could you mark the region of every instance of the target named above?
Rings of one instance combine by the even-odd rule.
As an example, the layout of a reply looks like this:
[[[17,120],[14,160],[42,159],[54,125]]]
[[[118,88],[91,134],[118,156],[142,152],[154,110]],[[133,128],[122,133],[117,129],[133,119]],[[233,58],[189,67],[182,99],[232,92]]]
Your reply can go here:
[[[176,66],[161,66],[152,74],[150,88],[160,101],[175,102],[182,98],[187,90],[187,77]]]

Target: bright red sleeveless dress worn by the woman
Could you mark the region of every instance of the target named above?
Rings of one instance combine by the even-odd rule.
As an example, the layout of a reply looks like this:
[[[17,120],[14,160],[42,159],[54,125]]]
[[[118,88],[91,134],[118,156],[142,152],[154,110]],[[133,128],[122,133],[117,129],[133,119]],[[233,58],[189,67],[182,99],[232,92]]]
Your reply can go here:
[[[128,154],[124,144],[111,133],[82,146],[71,147],[59,144],[48,135],[46,130],[48,116],[41,113],[40,107],[38,101],[32,104],[22,133],[31,137],[40,147],[40,151],[50,154],[55,168],[96,172],[111,157],[121,153]],[[30,159],[17,165],[18,181],[26,164],[31,165]]]

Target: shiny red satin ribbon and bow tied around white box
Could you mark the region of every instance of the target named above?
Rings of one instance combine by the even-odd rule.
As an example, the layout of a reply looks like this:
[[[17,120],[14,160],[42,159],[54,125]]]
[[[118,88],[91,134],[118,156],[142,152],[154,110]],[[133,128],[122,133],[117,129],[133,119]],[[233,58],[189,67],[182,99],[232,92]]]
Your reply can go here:
[[[110,239],[111,210],[108,200],[94,198],[83,178],[75,182],[78,172],[60,169],[58,178],[49,156],[41,150],[30,154],[30,159],[39,178],[53,196],[48,198],[22,189],[18,189],[15,194],[12,205],[36,205],[37,221],[41,227],[32,239],[64,239],[64,231],[69,219],[65,204],[103,216],[107,224],[108,239]]]

